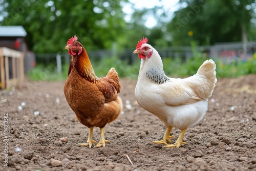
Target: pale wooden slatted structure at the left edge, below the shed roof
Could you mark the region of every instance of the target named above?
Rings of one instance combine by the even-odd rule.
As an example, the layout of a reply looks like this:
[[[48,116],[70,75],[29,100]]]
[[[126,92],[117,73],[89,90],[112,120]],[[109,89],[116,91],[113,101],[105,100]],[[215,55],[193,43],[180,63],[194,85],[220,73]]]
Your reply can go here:
[[[24,82],[24,53],[0,47],[1,89],[21,86]]]

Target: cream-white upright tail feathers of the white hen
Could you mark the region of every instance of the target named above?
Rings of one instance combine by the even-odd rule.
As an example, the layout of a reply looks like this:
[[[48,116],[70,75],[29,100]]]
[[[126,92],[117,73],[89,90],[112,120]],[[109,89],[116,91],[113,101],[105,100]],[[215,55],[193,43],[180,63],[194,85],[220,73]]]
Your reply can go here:
[[[207,81],[209,82],[209,94],[207,97],[209,98],[214,91],[215,84],[217,82],[215,62],[212,59],[204,61],[201,67],[198,69],[197,75],[205,76]]]

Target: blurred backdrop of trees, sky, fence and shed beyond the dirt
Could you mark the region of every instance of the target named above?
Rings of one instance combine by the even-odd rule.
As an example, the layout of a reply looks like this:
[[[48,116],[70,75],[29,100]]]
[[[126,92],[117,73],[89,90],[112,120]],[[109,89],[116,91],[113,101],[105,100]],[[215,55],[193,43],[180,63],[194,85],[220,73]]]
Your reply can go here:
[[[0,49],[10,79],[20,71],[32,80],[65,80],[64,48],[73,35],[98,76],[115,67],[120,77],[137,78],[133,51],[143,36],[161,55],[166,75],[193,75],[207,58],[217,62],[218,77],[256,74],[254,0],[0,0],[0,47],[24,55],[23,70],[15,70],[19,60]]]

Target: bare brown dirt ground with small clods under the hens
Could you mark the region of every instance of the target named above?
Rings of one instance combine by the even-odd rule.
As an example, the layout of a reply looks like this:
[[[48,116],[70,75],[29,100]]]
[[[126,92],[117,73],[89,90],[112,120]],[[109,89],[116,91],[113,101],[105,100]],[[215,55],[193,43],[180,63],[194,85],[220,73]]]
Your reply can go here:
[[[128,78],[121,79],[123,113],[106,125],[105,139],[111,143],[76,146],[87,141],[89,129],[76,121],[64,83],[26,82],[23,88],[0,91],[0,138],[8,142],[0,145],[0,170],[256,170],[256,75],[219,79],[208,112],[187,129],[180,148],[152,143],[162,139],[165,127],[140,108],[136,80]],[[180,130],[171,134],[175,142]],[[93,138],[99,141],[98,127]]]

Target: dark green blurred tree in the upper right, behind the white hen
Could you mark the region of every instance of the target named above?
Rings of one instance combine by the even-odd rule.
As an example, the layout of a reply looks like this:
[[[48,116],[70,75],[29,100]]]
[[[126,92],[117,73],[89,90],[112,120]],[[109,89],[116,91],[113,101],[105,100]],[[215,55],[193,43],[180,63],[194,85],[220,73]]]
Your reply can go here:
[[[185,8],[175,12],[167,26],[174,45],[189,45],[192,38],[209,45],[253,37],[254,0],[180,0],[180,4]],[[188,36],[189,31],[193,36]]]

